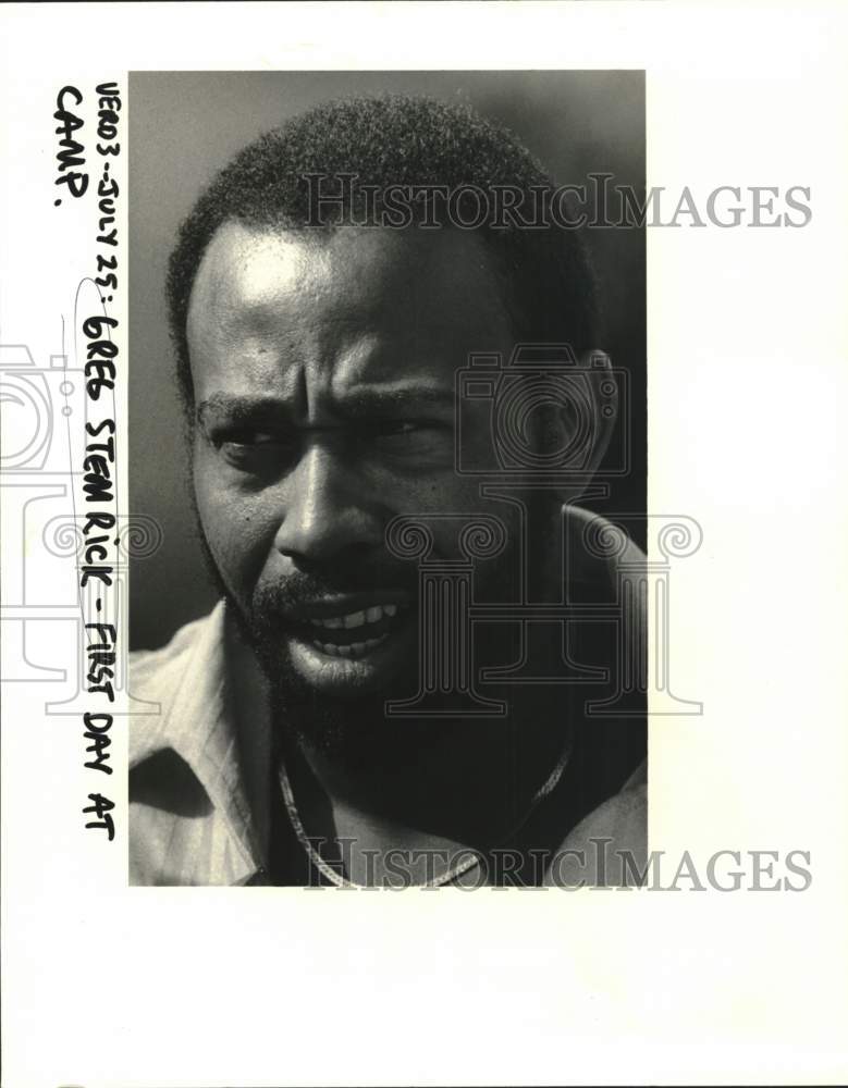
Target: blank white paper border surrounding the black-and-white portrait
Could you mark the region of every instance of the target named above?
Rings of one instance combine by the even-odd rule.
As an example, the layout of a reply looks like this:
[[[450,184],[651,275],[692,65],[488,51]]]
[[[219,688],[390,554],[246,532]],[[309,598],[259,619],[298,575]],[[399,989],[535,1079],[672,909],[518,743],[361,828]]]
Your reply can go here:
[[[41,4],[0,21],[0,341],[41,364],[94,264],[91,201],[52,206],[56,94],[125,91],[130,70],[646,69],[649,186],[804,185],[813,209],[803,230],[648,237],[650,508],[704,530],[675,569],[673,664],[705,704],[652,724],[651,845],[809,850],[812,887],[127,889],[123,726],[109,844],[82,828],[79,720],[44,713],[66,689],[8,683],[7,1088],[843,1081],[844,9]],[[4,605],[37,548],[11,491]],[[32,640],[73,671],[73,623]]]

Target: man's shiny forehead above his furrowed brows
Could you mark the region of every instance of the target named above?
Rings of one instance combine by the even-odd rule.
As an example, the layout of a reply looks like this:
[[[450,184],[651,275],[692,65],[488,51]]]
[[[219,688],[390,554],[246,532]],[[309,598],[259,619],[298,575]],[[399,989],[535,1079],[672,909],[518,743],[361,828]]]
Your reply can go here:
[[[286,371],[374,380],[507,350],[507,319],[479,236],[454,230],[333,233],[224,224],[192,290],[195,383],[259,387]]]

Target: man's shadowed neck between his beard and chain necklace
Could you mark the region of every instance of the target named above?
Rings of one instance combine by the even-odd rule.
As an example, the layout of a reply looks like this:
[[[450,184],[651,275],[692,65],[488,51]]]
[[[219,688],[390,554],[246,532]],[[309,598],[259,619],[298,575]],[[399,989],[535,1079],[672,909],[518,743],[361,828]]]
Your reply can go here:
[[[282,755],[304,824],[311,817],[318,834],[358,824],[398,845],[495,845],[567,752],[566,715],[553,704],[543,689],[530,689],[513,698],[506,719],[349,720],[337,744],[285,728]]]

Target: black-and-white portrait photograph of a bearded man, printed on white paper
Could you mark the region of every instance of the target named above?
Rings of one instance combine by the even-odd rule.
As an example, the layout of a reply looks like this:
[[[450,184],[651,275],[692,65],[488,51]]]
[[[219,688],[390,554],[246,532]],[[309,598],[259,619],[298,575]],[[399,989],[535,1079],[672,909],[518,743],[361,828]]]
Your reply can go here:
[[[643,73],[130,96],[131,881],[638,880]]]

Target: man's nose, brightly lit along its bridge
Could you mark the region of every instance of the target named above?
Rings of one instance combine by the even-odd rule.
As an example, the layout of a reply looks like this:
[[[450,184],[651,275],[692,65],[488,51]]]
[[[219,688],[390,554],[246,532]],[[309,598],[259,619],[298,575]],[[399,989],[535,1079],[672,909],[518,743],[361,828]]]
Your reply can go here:
[[[382,543],[382,521],[367,499],[367,482],[344,453],[309,443],[283,483],[283,516],[274,546],[302,565]]]

